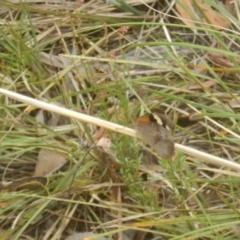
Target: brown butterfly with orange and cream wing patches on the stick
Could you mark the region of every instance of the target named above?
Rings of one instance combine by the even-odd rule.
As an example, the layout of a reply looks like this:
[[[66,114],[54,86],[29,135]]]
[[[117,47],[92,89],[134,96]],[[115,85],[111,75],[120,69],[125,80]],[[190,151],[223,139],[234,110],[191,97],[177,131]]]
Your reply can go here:
[[[174,124],[167,116],[153,112],[135,121],[137,135],[142,138],[161,158],[172,158]]]

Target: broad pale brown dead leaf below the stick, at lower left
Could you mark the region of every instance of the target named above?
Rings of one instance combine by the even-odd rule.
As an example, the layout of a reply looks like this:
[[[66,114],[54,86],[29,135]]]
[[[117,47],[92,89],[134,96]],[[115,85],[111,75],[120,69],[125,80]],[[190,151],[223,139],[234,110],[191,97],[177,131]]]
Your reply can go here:
[[[38,153],[38,162],[33,176],[46,176],[57,171],[66,163],[62,153],[49,149],[41,149]]]

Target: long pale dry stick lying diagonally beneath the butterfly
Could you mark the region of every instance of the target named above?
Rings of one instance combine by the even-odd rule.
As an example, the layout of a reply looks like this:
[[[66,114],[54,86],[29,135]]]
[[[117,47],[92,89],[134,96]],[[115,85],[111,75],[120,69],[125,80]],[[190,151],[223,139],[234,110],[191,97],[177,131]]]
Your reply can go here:
[[[137,137],[136,131],[134,131],[131,128],[123,127],[121,125],[118,125],[118,124],[115,124],[112,122],[108,122],[108,121],[105,121],[105,120],[102,120],[102,119],[99,119],[96,117],[88,116],[86,114],[82,114],[79,112],[75,112],[75,111],[72,111],[72,110],[69,110],[69,109],[66,109],[63,107],[59,107],[54,104],[46,103],[46,102],[43,102],[43,101],[40,101],[40,100],[37,100],[34,98],[30,98],[30,97],[27,97],[27,96],[24,96],[24,95],[21,95],[21,94],[18,94],[18,93],[15,93],[15,92],[3,89],[3,88],[0,88],[0,93],[6,95],[8,97],[14,98],[20,102],[24,102],[29,105],[33,105],[35,107],[38,107],[38,108],[41,108],[41,109],[44,109],[44,110],[47,110],[50,112],[58,113],[63,116],[74,118],[74,119],[77,119],[77,120],[80,120],[80,121],[83,121],[86,123],[91,123],[91,124],[97,125],[99,127],[103,127],[103,128],[112,130],[114,132],[122,133],[122,134],[125,134],[128,136],[131,136],[131,137]],[[193,156],[199,160],[202,160],[203,162],[211,163],[211,164],[218,165],[218,166],[229,167],[229,168],[233,168],[235,170],[240,170],[240,164],[237,164],[235,162],[231,162],[231,161],[228,161],[223,158],[215,157],[208,153],[200,152],[196,149],[189,148],[189,147],[186,147],[186,146],[183,146],[180,144],[175,144],[175,148],[176,148],[176,150],[183,152],[185,154],[188,154],[190,156]]]

